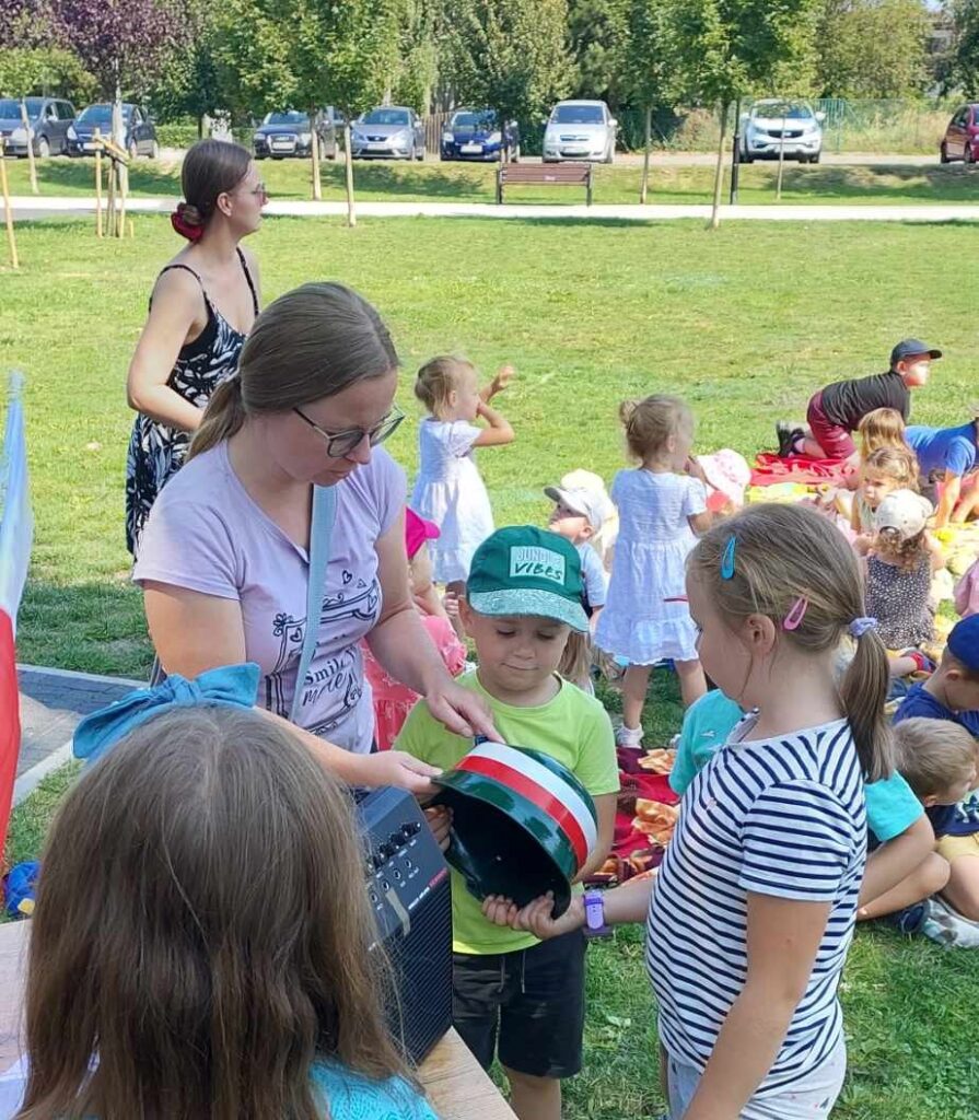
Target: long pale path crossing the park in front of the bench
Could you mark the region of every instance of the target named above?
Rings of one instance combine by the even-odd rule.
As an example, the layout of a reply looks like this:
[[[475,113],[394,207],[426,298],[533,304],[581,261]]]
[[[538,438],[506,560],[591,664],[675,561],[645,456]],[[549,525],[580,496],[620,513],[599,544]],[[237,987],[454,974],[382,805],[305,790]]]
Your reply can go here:
[[[40,198],[17,196],[11,202],[15,216],[21,217],[26,217],[28,214],[32,217],[45,217],[54,214],[86,214],[95,209],[94,197],[86,198],[84,196]],[[130,198],[127,204],[128,213],[169,214],[177,202],[176,197]],[[279,200],[270,202],[265,207],[265,213],[290,217],[343,217],[346,216],[346,203]],[[522,221],[549,222],[554,218],[568,222],[664,222],[678,218],[706,221],[710,216],[710,206],[700,203],[683,203],[674,206],[640,206],[635,203],[595,206],[505,203],[497,206],[494,203],[358,202],[357,216],[520,218]],[[929,204],[914,206],[875,206],[869,204],[824,206],[784,203],[777,206],[721,207],[721,221],[725,222],[975,222],[977,220],[979,220],[979,205],[975,203],[935,206]]]

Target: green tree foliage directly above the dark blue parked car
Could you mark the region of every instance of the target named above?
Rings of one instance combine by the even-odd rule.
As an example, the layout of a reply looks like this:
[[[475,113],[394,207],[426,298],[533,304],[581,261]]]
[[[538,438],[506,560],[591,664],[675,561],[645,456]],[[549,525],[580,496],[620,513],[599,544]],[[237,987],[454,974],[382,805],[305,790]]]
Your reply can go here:
[[[504,121],[537,121],[569,88],[567,0],[447,0],[446,74]]]

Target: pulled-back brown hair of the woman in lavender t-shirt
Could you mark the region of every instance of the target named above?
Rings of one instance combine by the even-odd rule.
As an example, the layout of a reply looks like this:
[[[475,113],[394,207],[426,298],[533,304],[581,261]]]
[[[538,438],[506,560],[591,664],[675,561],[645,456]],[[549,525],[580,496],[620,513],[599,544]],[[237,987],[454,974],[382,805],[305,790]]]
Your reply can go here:
[[[237,373],[214,391],[188,459],[230,439],[253,416],[289,412],[398,368],[377,311],[342,283],[305,283],[255,319]]]

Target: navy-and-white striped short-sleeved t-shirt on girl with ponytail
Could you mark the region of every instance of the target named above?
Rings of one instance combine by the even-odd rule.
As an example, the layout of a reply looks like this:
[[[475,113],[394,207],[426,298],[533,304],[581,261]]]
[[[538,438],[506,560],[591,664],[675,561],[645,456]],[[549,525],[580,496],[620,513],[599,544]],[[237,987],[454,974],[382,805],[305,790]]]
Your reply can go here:
[[[748,892],[831,904],[812,973],[757,1094],[783,1090],[839,1043],[837,987],[867,855],[864,782],[840,719],[752,741],[756,716],[693,780],[650,905],[646,968],[660,1038],[703,1068],[747,971]]]

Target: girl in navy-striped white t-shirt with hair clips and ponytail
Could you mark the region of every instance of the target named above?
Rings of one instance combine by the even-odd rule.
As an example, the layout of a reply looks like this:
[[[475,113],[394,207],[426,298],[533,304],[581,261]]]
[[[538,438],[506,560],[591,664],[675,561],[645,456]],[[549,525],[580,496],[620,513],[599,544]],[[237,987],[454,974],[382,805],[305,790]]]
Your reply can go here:
[[[846,1071],[837,989],[866,861],[861,775],[892,769],[886,652],[851,549],[803,506],[711,529],[687,594],[705,671],[748,715],[688,788],[655,890],[608,892],[588,924],[649,912],[671,1120],[823,1118]],[[586,915],[580,900],[557,922],[547,899],[485,912],[538,936]]]

